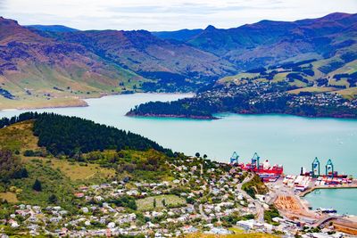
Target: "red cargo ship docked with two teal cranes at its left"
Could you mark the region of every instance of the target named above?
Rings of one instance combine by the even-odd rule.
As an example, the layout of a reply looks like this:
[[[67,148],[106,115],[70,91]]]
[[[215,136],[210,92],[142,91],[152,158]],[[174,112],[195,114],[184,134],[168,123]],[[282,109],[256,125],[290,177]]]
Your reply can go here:
[[[234,152],[232,157],[230,158],[231,165],[237,165],[237,167],[241,168],[242,170],[253,171],[259,175],[266,175],[262,176],[262,178],[265,177],[266,180],[270,180],[270,178],[275,179],[274,175],[280,176],[284,172],[284,168],[282,165],[275,164],[273,166],[270,166],[269,160],[265,160],[263,163],[260,163],[261,158],[256,152],[254,153],[250,163],[239,163],[238,158],[239,156],[237,155],[237,152]]]

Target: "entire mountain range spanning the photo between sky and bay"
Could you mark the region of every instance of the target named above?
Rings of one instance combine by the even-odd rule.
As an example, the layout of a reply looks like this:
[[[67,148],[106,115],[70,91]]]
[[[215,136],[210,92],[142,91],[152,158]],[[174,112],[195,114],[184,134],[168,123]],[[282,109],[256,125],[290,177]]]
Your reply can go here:
[[[233,29],[149,32],[21,26],[0,18],[0,108],[140,90],[195,91],[246,70],[312,59],[316,77],[353,73],[356,22],[357,14],[336,12]]]

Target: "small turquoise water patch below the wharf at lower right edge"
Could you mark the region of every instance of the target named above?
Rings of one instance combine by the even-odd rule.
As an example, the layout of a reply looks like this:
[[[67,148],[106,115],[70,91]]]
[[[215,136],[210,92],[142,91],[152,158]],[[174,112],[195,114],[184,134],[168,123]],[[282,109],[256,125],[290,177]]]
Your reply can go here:
[[[357,189],[319,189],[304,197],[312,209],[334,208],[338,214],[357,215]]]

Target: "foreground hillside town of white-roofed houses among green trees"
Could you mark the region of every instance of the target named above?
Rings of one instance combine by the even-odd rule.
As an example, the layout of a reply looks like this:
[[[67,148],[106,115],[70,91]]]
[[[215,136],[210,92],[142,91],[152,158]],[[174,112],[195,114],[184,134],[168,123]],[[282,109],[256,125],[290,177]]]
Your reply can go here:
[[[167,163],[174,177],[170,181],[146,183],[124,178],[100,185],[81,185],[73,194],[72,210],[3,202],[2,213],[6,216],[0,220],[0,237],[7,237],[5,232],[156,238],[237,231],[284,237],[349,235],[338,232],[336,226],[296,216],[300,208],[286,207],[299,204],[283,201],[295,199],[295,183],[292,186],[287,181],[293,179],[291,176],[264,185],[254,172],[199,155]],[[313,216],[320,220],[325,215]]]

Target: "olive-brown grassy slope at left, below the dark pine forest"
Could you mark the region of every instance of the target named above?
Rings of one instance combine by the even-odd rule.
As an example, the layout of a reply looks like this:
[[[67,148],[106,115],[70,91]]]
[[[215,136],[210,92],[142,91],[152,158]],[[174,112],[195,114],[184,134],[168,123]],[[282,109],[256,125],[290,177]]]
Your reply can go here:
[[[0,129],[0,149],[9,149],[14,157],[20,158],[21,165],[27,169],[29,175],[8,182],[0,181],[1,199],[46,206],[49,204],[49,196],[54,194],[62,198],[59,201],[61,206],[71,209],[71,192],[75,185],[80,185],[83,181],[105,181],[115,175],[112,168],[100,168],[95,164],[85,166],[79,162],[46,156],[46,149],[38,147],[38,138],[33,135],[33,123],[34,121],[27,120]],[[29,150],[41,153],[41,156],[24,156]],[[36,179],[42,183],[42,193],[32,189]]]

